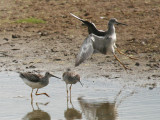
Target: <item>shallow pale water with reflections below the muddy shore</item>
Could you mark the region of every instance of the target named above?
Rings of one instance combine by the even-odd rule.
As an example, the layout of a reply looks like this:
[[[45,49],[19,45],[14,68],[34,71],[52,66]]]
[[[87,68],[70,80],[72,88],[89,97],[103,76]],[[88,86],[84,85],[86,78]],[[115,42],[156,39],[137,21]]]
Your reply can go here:
[[[149,89],[120,78],[83,78],[84,86],[73,85],[71,101],[67,101],[65,83],[51,78],[39,90],[50,98],[34,95],[31,106],[31,88],[17,73],[0,73],[0,78],[0,120],[160,120],[158,86]]]

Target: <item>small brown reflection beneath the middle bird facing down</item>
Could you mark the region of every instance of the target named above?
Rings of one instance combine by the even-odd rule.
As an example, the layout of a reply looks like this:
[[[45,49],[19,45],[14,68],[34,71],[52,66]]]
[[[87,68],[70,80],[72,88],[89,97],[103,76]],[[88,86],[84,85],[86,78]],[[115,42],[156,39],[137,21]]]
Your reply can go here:
[[[71,99],[70,99],[70,104],[72,106],[71,108],[69,108],[68,97],[67,97],[67,110],[64,111],[64,117],[66,118],[66,120],[81,119],[82,113],[74,108]]]

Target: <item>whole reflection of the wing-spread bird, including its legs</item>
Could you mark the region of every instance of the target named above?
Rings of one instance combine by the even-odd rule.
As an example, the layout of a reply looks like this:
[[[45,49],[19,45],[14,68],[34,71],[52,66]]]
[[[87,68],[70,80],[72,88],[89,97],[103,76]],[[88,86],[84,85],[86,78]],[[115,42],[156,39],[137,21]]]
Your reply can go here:
[[[117,108],[128,97],[134,95],[134,91],[120,97],[125,86],[117,93],[113,102],[98,102],[91,99],[79,97],[79,104],[87,120],[116,120],[118,117]]]

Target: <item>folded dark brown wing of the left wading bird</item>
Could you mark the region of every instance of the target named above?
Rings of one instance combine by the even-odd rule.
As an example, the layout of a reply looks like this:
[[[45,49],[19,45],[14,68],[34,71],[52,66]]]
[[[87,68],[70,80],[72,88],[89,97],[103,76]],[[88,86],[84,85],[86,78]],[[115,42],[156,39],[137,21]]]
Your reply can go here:
[[[22,79],[27,79],[31,82],[39,82],[40,78],[36,74],[31,74],[31,73],[20,73],[19,75]]]

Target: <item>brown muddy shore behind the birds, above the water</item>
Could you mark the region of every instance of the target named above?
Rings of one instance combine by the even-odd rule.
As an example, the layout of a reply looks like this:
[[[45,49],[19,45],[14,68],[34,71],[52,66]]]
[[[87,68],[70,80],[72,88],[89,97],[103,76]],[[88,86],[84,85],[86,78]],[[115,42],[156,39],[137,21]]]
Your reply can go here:
[[[101,1],[97,6],[91,6],[95,2],[97,1],[80,3],[78,1],[2,0],[0,5],[0,70],[40,73],[63,72],[70,67],[85,77],[114,78],[123,77],[127,73],[146,79],[160,79],[160,27],[158,26],[160,7],[157,6],[160,2],[137,0],[131,3],[115,0]],[[109,6],[111,4],[112,7]],[[82,6],[84,6],[83,10]],[[101,8],[97,8],[99,6]],[[105,12],[103,13],[102,10]],[[71,17],[69,12],[92,20],[98,29],[105,30],[111,17],[116,17],[119,21],[128,24],[128,27],[116,26],[116,31],[118,48],[128,55],[139,58],[139,60],[132,61],[125,56],[118,55],[119,59],[131,70],[126,72],[113,55],[101,54],[93,55],[91,59],[75,68],[75,56],[88,33],[87,28]],[[105,18],[100,19],[101,16]],[[11,22],[28,17],[41,18],[47,23]]]

